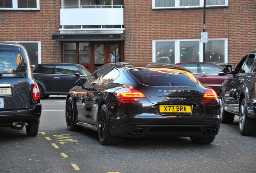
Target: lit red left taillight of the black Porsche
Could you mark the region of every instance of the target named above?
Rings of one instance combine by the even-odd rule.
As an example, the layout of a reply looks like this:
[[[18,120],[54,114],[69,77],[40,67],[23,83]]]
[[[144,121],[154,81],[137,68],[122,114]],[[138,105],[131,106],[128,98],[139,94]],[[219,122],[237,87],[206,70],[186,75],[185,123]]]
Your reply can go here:
[[[134,99],[146,97],[141,91],[130,88],[118,89],[114,94],[118,97],[118,101],[122,103],[136,103],[138,101],[135,101]]]

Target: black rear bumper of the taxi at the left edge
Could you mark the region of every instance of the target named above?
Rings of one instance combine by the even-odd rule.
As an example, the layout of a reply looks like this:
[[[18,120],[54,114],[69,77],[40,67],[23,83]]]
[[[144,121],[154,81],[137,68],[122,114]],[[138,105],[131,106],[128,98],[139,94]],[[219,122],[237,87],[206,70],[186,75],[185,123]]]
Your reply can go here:
[[[34,105],[31,109],[0,111],[0,127],[6,123],[39,121],[42,106],[40,103]]]

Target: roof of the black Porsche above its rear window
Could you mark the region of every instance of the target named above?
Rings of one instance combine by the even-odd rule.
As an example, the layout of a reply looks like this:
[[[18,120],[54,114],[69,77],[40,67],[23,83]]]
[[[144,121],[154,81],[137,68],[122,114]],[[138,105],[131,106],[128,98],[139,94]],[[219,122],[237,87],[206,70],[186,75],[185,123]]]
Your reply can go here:
[[[160,62],[117,62],[117,63],[105,64],[103,66],[109,66],[109,65],[115,66],[116,68],[126,68],[126,69],[141,68],[141,67],[162,67],[162,68],[175,68],[175,69],[190,71],[176,64],[165,64]]]

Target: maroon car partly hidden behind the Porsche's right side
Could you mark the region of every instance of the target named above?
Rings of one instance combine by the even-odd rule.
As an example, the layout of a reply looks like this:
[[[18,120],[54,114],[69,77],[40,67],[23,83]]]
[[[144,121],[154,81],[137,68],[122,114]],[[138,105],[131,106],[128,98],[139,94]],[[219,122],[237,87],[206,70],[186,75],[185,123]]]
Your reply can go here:
[[[223,67],[212,62],[180,62],[177,65],[188,68],[202,84],[214,89],[218,95],[221,84],[230,76],[222,72]]]

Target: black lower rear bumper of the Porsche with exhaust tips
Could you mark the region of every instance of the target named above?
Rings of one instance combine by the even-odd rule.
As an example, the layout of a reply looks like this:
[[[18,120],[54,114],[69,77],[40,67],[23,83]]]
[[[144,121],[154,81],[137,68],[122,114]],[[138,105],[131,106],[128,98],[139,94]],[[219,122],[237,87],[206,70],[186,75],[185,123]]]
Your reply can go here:
[[[220,120],[218,115],[201,117],[136,115],[133,118],[111,120],[110,133],[118,137],[205,137],[218,134]]]

